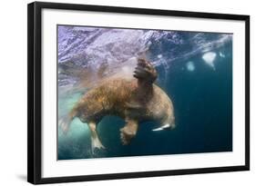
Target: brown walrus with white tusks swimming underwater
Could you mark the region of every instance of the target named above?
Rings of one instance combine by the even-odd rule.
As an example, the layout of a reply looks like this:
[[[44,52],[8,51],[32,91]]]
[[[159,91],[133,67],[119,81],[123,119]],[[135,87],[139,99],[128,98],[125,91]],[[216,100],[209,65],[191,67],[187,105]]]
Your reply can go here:
[[[138,125],[145,121],[159,123],[153,131],[175,128],[174,108],[167,93],[154,82],[158,73],[144,58],[137,58],[132,78],[112,78],[85,93],[66,119],[59,122],[64,131],[74,118],[85,122],[91,132],[91,147],[104,149],[97,134],[97,123],[106,115],[121,117],[125,126],[120,129],[120,140],[128,144],[137,134]]]

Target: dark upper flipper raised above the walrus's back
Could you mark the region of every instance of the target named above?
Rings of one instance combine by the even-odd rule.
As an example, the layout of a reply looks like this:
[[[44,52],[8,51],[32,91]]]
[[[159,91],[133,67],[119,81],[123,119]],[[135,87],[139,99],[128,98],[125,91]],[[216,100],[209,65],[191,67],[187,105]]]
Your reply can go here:
[[[135,68],[133,76],[137,78],[140,82],[154,83],[158,77],[158,73],[154,66],[148,61],[138,58],[138,64]]]

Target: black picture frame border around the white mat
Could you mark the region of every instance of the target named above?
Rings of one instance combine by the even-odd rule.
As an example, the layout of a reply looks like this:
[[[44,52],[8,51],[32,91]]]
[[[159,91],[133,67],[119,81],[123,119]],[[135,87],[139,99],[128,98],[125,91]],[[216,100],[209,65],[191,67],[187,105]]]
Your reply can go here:
[[[41,24],[42,10],[61,9],[93,12],[125,13],[137,15],[165,15],[177,17],[195,17],[209,19],[240,20],[245,22],[245,164],[227,167],[209,167],[200,169],[119,172],[111,174],[79,175],[67,177],[42,178],[42,54]],[[100,5],[74,5],[35,2],[27,5],[27,181],[34,184],[69,181],[99,181],[140,177],[169,176],[179,174],[210,173],[223,171],[250,170],[250,16],[226,15],[198,12],[114,7]]]

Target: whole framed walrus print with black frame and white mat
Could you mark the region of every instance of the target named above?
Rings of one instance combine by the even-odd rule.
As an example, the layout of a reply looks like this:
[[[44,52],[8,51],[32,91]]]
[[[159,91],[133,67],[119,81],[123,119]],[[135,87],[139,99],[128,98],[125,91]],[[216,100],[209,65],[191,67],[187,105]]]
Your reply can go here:
[[[28,5],[31,183],[250,169],[250,16]]]

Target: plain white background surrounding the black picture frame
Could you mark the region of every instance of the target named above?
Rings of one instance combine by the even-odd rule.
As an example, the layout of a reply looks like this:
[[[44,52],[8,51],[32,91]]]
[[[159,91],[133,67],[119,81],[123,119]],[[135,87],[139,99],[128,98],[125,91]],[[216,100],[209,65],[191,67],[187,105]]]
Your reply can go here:
[[[47,1],[47,0],[45,0]],[[251,171],[170,176],[61,185],[254,185],[256,181],[256,11],[253,1],[236,0],[55,0],[63,3],[118,5],[170,10],[251,15]],[[26,4],[2,1],[0,6],[0,185],[26,182]],[[58,185],[58,184],[57,184]]]

